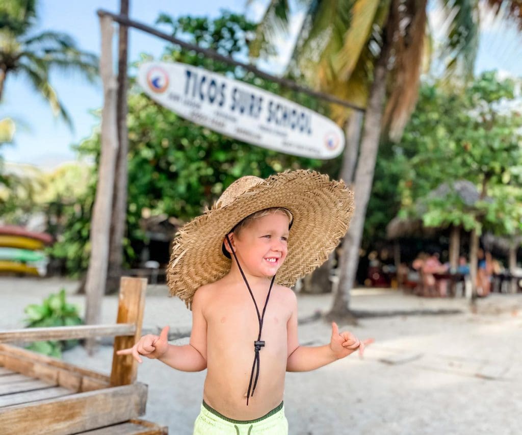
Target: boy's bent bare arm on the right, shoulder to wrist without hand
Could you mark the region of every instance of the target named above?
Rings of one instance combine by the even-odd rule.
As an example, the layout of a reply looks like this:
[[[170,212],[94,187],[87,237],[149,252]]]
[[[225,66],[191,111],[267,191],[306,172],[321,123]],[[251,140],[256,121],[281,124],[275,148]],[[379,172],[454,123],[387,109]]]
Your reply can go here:
[[[288,372],[304,372],[326,366],[337,359],[330,345],[309,347],[299,346],[297,334],[297,297],[291,291],[292,314],[287,322]]]

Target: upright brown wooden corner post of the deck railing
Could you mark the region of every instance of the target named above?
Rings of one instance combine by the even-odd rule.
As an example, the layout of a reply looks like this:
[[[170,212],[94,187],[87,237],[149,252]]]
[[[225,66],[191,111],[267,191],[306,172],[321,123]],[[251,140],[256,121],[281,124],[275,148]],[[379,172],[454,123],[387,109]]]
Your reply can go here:
[[[116,352],[134,346],[134,343],[141,336],[146,290],[147,279],[145,278],[123,276],[120,281],[120,299],[118,300],[116,323],[133,323],[136,325],[136,333],[114,339],[111,385],[127,385],[136,381],[138,362],[132,355],[116,355]]]

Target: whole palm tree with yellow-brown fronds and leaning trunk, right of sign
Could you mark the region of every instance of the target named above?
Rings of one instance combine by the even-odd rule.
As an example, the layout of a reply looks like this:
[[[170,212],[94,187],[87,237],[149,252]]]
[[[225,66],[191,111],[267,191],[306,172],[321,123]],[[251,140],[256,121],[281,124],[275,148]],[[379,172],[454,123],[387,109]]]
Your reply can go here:
[[[350,289],[359,263],[379,139],[382,134],[399,139],[417,102],[422,61],[431,46],[425,44],[428,0],[300,3],[306,7],[305,19],[287,73],[302,76],[316,89],[366,107],[354,177],[356,207],[343,240],[339,285],[329,313],[350,317]],[[479,0],[438,3],[447,22],[442,50],[447,70],[471,75],[478,45]],[[499,3],[487,2],[492,7]],[[505,10],[498,7],[496,12]],[[513,16],[516,10],[508,8]],[[279,29],[286,29],[289,16],[287,0],[271,0],[251,45],[253,56],[263,52],[266,42]],[[332,109],[338,122],[345,122],[350,116],[345,109]],[[350,144],[350,138],[347,143],[357,146]],[[345,152],[341,174],[350,173],[352,155],[353,152]]]

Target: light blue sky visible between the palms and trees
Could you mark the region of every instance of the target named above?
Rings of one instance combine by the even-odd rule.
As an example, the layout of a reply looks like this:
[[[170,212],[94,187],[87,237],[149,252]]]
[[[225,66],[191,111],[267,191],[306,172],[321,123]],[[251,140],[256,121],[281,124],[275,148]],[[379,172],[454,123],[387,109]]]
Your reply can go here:
[[[131,17],[153,25],[160,12],[174,17],[180,15],[217,16],[220,9],[237,12],[246,10],[246,0],[191,0],[189,2],[157,0],[130,0]],[[265,1],[254,3],[248,10],[250,17],[259,16]],[[82,50],[100,52],[100,29],[96,10],[119,10],[119,0],[41,0],[39,2],[39,26],[35,31],[63,31],[74,37]],[[476,72],[498,69],[503,74],[522,77],[522,37],[513,26],[505,26],[484,20],[481,32]],[[284,51],[290,43],[281,41]],[[158,57],[164,42],[156,37],[131,29],[129,32],[129,61],[135,61],[139,53],[146,52]],[[283,60],[280,64],[283,63]],[[277,69],[277,65],[276,68]],[[15,143],[2,148],[6,161],[30,163],[49,168],[75,159],[71,144],[77,144],[91,134],[97,119],[90,112],[101,108],[101,81],[89,84],[79,75],[53,72],[51,84],[71,115],[74,131],[53,117],[47,103],[35,93],[23,77],[9,77],[4,98],[0,104],[0,119],[14,117],[17,121]]]

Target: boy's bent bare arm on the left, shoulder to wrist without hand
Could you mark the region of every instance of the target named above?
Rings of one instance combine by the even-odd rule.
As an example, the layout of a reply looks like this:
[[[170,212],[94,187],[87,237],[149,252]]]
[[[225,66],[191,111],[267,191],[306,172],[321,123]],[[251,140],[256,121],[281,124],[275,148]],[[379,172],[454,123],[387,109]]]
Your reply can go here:
[[[195,372],[207,368],[207,321],[203,315],[206,289],[201,287],[194,293],[192,300],[192,332],[190,344],[184,346],[169,345],[159,358],[170,367],[186,372]]]

